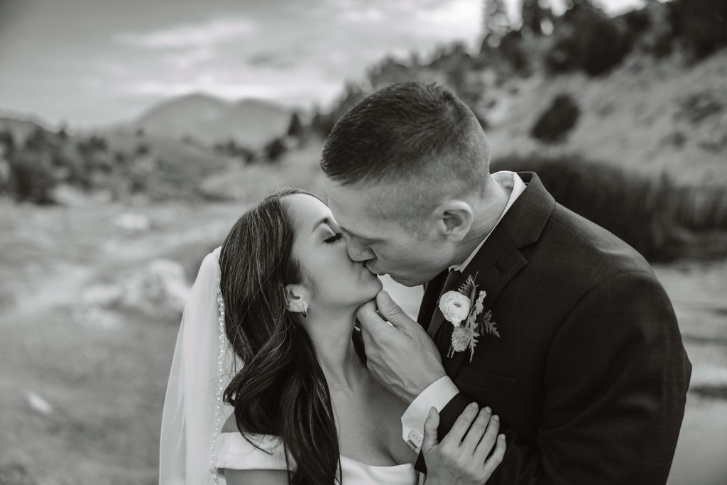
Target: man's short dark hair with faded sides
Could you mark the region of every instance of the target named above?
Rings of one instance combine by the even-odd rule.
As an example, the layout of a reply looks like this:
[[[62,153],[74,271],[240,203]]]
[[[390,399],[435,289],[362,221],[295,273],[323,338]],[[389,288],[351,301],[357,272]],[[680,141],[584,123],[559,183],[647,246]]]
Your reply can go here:
[[[440,184],[483,191],[489,146],[475,114],[436,84],[393,84],[367,96],[337,122],[321,169],[340,185]]]

